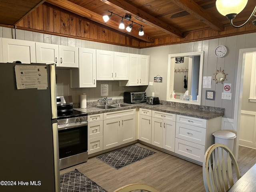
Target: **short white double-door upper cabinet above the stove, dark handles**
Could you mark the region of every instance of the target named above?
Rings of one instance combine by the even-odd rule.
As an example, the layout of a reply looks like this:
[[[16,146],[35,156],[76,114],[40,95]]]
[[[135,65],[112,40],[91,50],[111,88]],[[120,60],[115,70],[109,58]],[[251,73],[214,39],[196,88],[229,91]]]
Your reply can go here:
[[[36,42],[36,62],[78,68],[78,48]]]

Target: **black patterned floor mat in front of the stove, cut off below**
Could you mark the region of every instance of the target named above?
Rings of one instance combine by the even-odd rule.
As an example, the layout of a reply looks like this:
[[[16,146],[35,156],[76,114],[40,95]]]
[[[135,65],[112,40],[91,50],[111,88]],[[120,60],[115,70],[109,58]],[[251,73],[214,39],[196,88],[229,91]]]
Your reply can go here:
[[[107,192],[77,169],[60,176],[60,192]]]

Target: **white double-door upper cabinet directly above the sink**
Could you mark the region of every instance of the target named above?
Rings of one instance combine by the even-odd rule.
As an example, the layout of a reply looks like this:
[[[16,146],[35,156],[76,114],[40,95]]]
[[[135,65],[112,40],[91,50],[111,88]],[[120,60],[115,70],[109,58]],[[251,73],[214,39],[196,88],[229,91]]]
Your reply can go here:
[[[97,80],[128,80],[129,54],[96,51]]]

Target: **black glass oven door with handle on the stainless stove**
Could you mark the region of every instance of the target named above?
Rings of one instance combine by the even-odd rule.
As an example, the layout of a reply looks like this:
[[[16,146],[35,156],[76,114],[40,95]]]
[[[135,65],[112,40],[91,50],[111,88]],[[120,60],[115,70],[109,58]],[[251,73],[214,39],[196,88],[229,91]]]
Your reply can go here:
[[[58,126],[60,159],[87,152],[88,122]]]

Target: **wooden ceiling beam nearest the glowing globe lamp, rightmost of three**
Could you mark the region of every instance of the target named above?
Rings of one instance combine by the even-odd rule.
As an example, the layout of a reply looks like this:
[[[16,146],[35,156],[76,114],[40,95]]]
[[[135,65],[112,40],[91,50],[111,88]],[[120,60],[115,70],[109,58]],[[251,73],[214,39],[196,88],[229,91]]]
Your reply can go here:
[[[193,15],[195,18],[198,18],[205,24],[207,24],[210,28],[216,31],[224,31],[224,26],[221,22],[219,22],[214,16],[209,15],[206,10],[200,7],[193,0],[172,0],[186,12]]]

